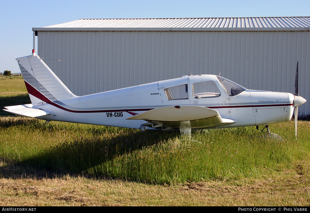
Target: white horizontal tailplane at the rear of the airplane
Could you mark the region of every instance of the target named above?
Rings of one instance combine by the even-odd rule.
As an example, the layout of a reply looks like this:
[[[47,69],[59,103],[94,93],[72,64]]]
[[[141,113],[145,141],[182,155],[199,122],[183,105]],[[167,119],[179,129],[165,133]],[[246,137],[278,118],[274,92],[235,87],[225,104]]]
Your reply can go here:
[[[17,106],[10,106],[5,107],[7,112],[11,112],[16,115],[21,115],[29,118],[35,118],[42,115],[49,115],[48,111],[44,111],[41,109],[34,109],[32,108],[32,104],[24,104],[24,105],[17,105]]]

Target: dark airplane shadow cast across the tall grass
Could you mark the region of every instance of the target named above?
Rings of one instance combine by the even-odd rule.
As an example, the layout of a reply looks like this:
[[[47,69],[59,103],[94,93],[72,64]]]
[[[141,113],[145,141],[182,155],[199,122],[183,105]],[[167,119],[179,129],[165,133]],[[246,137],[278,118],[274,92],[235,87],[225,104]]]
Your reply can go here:
[[[15,121],[15,124],[13,122],[12,125],[27,125],[20,122]],[[0,176],[5,178],[20,178],[23,176],[52,178],[70,174],[120,178],[111,176],[108,169],[96,173],[92,172],[91,174],[88,171],[103,163],[113,163],[113,159],[119,156],[156,145],[163,140],[169,140],[178,135],[176,132],[164,133],[156,130],[142,132],[136,129],[116,129],[121,133],[115,133],[114,128],[111,133],[106,133],[106,136],[98,137],[102,133],[100,129],[90,128],[92,136],[64,141],[59,145],[49,147],[41,154],[30,156],[20,162],[10,162],[7,159],[2,159],[6,163],[0,164]]]

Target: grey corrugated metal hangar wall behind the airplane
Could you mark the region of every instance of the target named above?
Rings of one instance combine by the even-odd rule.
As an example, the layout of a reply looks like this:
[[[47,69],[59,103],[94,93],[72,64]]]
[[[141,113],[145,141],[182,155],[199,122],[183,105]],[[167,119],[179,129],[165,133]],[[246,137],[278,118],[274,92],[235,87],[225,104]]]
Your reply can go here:
[[[76,95],[177,78],[187,68],[294,93],[299,61],[299,95],[308,100],[299,110],[308,115],[309,38],[309,31],[38,31],[38,55]]]

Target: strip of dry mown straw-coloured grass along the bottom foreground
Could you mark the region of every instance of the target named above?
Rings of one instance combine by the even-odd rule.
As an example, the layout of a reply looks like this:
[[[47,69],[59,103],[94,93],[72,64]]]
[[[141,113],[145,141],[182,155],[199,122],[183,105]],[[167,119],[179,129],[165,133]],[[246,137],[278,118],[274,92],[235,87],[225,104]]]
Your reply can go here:
[[[309,206],[309,172],[266,179],[148,185],[83,176],[0,179],[2,206]]]

